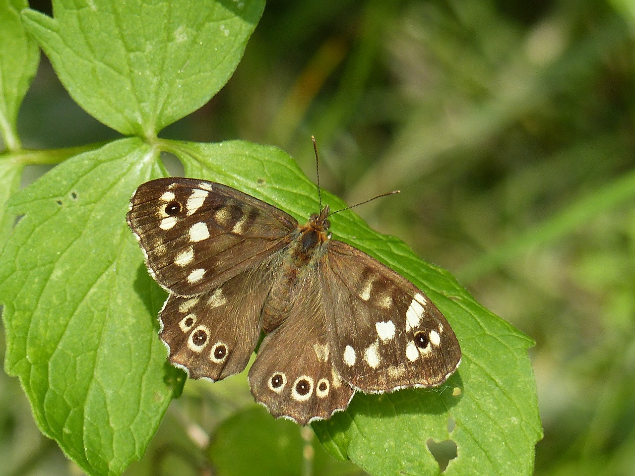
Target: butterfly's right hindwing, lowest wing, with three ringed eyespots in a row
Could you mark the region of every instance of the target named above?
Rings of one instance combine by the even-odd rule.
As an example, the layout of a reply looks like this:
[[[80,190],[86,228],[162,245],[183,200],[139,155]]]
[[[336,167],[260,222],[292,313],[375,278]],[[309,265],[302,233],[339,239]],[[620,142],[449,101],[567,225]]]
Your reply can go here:
[[[276,418],[330,418],[354,395],[331,361],[319,277],[309,273],[286,320],[267,334],[249,371],[251,393]]]

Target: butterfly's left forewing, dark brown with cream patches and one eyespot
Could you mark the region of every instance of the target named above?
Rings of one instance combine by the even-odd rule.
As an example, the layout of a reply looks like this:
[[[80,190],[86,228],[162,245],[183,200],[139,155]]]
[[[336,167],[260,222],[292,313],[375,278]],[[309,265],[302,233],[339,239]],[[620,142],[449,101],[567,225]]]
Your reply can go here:
[[[156,281],[179,296],[210,291],[267,260],[297,226],[250,195],[190,178],[140,185],[127,219]]]

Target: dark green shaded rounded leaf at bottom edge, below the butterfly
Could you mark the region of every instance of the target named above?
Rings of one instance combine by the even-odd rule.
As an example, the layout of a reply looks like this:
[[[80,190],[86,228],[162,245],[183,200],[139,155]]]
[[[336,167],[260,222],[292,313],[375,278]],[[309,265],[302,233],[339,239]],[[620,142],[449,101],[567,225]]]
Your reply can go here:
[[[305,443],[301,432],[301,427],[295,423],[274,420],[263,407],[252,407],[218,427],[208,455],[218,476],[300,476],[303,474],[303,452],[307,451],[305,446],[309,446],[312,475],[359,473],[351,463],[328,456],[317,442],[311,442],[311,438]]]

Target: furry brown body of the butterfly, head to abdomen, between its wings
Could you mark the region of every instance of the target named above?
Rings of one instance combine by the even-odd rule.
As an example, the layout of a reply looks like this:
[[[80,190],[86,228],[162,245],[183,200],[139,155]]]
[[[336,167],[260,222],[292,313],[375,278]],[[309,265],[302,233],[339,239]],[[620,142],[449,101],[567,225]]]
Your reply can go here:
[[[277,275],[269,296],[262,309],[263,326],[266,331],[275,329],[283,321],[294,305],[291,296],[297,296],[295,292],[302,281],[321,262],[320,258],[326,253],[327,243],[330,239],[327,220],[328,205],[321,209],[320,213],[311,215],[305,225],[298,225],[290,234],[289,244],[285,249],[281,269]]]

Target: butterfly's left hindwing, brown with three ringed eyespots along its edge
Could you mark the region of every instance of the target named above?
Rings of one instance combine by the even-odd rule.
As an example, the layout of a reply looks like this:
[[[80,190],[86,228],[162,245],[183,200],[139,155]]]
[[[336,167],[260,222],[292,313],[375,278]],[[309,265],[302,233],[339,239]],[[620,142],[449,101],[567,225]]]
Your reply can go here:
[[[221,380],[243,371],[260,337],[260,309],[271,289],[276,258],[208,293],[171,294],[159,314],[159,336],[170,349],[170,361],[191,378]]]

